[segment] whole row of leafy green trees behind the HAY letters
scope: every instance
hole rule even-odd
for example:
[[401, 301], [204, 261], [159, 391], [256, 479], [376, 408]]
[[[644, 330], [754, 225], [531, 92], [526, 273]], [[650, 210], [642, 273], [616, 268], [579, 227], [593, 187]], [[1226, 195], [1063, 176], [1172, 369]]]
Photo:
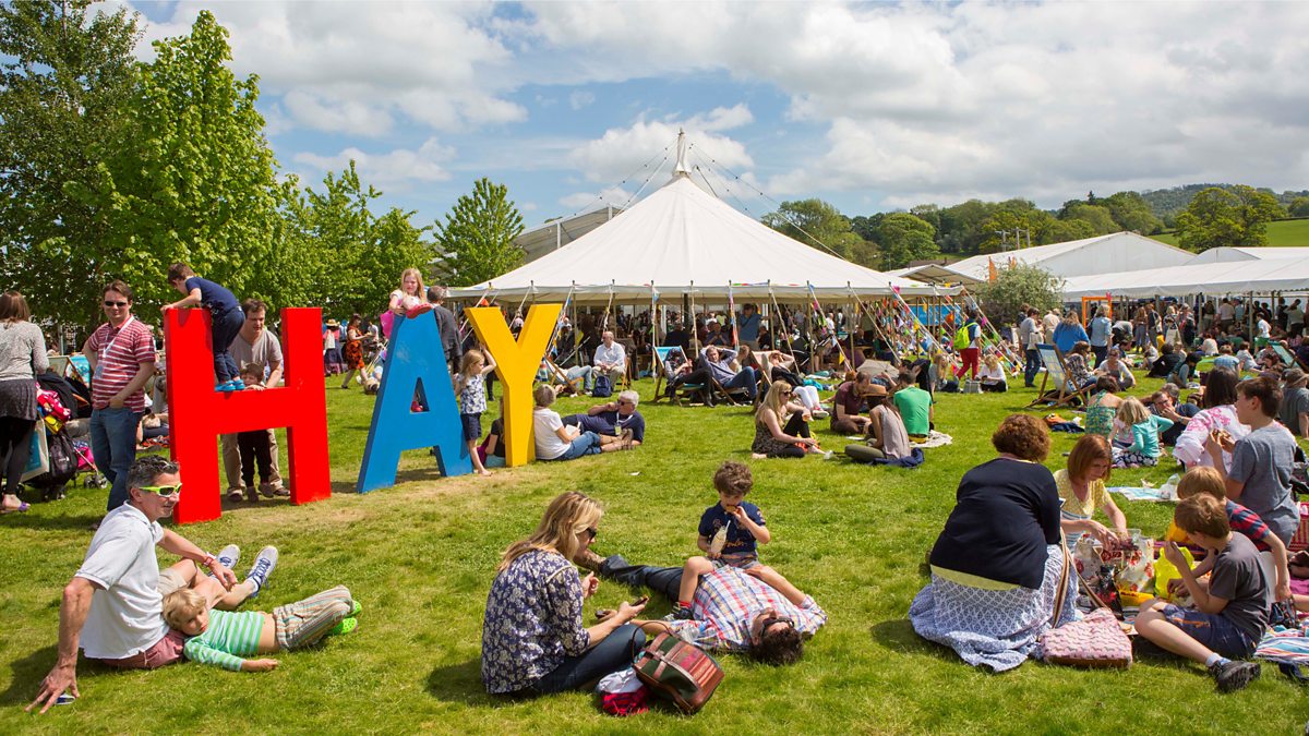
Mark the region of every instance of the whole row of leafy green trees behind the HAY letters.
[[209, 12], [140, 63], [137, 14], [90, 4], [0, 5], [0, 276], [41, 318], [93, 325], [111, 279], [143, 306], [171, 300], [174, 261], [336, 316], [380, 312], [407, 267], [465, 285], [521, 261], [503, 185], [478, 181], [431, 225], [378, 208], [353, 161], [306, 185], [281, 170], [258, 76], [232, 73]]

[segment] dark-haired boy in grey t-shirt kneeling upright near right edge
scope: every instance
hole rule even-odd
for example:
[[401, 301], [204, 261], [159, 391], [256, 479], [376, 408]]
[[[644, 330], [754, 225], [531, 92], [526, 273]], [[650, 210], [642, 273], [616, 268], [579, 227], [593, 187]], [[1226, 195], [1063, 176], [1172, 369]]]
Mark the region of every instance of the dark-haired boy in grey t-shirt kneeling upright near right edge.
[[1223, 451], [1232, 453], [1225, 473], [1228, 498], [1259, 515], [1272, 533], [1289, 545], [1300, 526], [1300, 508], [1291, 492], [1291, 465], [1296, 440], [1274, 422], [1282, 403], [1282, 389], [1267, 377], [1247, 378], [1236, 386], [1236, 418], [1253, 430], [1233, 443], [1225, 432], [1215, 432], [1206, 448], [1223, 473]]

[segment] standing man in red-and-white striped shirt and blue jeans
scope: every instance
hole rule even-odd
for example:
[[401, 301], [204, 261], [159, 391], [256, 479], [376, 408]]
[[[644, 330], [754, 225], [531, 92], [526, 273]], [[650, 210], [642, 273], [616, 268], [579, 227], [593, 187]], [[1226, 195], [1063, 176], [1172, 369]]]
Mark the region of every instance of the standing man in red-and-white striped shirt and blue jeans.
[[154, 338], [132, 316], [132, 287], [110, 282], [103, 291], [109, 320], [86, 338], [90, 364], [90, 451], [109, 478], [106, 511], [127, 503], [127, 470], [136, 460], [136, 426], [145, 413], [145, 381], [154, 373]]

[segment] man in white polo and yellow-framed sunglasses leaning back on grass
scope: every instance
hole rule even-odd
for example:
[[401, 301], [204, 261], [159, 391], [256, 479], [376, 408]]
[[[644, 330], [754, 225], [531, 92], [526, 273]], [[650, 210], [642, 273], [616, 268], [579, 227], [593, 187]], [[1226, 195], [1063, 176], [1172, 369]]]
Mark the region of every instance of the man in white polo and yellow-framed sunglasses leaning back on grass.
[[[209, 601], [234, 606], [258, 593], [276, 564], [276, 549], [264, 549], [250, 578], [237, 585], [228, 568], [236, 563], [234, 547], [223, 551], [228, 561], [220, 561], [160, 526], [158, 520], [171, 516], [182, 494], [175, 462], [161, 456], [141, 457], [128, 470], [127, 486], [127, 503], [105, 515], [81, 568], [64, 587], [59, 659], [27, 710], [41, 705], [41, 712], [46, 712], [60, 698], [77, 697], [79, 646], [88, 659], [124, 669], [153, 669], [178, 661], [186, 639], [164, 622], [164, 593], [194, 587]], [[156, 546], [182, 561], [161, 574]], [[208, 567], [212, 578], [202, 575], [199, 564]]]

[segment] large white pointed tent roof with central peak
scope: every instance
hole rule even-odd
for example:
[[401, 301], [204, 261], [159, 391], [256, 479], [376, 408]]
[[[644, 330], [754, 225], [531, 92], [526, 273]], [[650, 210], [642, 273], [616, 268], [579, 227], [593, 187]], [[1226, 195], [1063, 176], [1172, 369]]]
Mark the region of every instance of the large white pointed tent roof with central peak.
[[571, 300], [575, 305], [810, 303], [953, 295], [958, 289], [865, 268], [792, 240], [703, 190], [679, 141], [673, 178], [580, 238], [488, 282], [452, 289], [459, 300]]

